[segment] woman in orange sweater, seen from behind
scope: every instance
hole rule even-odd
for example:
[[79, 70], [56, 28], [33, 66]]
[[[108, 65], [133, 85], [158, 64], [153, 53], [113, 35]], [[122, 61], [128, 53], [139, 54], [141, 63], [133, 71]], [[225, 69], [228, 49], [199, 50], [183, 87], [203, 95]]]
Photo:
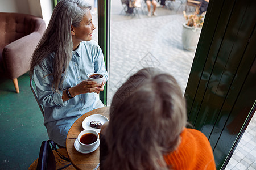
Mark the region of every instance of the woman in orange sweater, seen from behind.
[[203, 133], [185, 128], [183, 92], [154, 68], [138, 71], [115, 93], [100, 135], [101, 169], [216, 169]]

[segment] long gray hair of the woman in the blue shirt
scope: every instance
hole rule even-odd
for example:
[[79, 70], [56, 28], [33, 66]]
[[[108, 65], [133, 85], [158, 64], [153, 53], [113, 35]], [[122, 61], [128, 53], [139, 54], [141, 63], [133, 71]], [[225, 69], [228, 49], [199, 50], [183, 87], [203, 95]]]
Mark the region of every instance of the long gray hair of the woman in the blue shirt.
[[68, 63], [72, 58], [71, 25], [79, 27], [87, 8], [91, 10], [92, 7], [84, 0], [62, 0], [57, 3], [49, 25], [32, 55], [31, 77], [35, 66], [40, 65], [49, 54], [55, 53], [52, 63], [53, 91], [59, 92], [59, 87], [62, 88], [64, 78], [61, 74], [67, 75]]

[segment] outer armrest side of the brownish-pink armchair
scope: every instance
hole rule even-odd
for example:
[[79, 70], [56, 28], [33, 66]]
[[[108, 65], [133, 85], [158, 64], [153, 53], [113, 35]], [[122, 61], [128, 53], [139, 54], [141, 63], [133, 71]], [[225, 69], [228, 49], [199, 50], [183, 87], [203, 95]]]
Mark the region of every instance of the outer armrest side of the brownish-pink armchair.
[[42, 35], [39, 32], [32, 32], [10, 44], [3, 49], [3, 65], [9, 78], [18, 78], [30, 70], [32, 53]]

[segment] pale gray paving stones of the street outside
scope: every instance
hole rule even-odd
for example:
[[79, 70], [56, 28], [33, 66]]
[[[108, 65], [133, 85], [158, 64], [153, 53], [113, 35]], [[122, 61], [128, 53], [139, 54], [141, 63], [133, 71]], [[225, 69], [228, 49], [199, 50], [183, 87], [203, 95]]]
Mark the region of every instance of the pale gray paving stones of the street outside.
[[[110, 16], [109, 99], [130, 75], [143, 67], [159, 67], [173, 75], [185, 92], [195, 52], [185, 51], [181, 42], [184, 4], [176, 0], [158, 7], [158, 16], [147, 16], [143, 5], [127, 15], [121, 0], [112, 0]], [[93, 0], [89, 0], [93, 5]], [[93, 14], [97, 25], [97, 13]], [[97, 41], [97, 29], [93, 39]], [[234, 152], [226, 169], [256, 169], [256, 116]]]

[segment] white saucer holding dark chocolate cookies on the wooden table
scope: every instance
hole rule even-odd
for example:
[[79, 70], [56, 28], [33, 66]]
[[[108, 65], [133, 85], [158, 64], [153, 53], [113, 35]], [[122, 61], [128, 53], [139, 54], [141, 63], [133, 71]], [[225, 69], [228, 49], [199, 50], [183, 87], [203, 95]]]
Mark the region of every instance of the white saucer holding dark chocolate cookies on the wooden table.
[[106, 118], [105, 116], [102, 116], [101, 114], [93, 114], [91, 116], [86, 117], [84, 121], [82, 121], [82, 128], [84, 128], [84, 130], [90, 129], [90, 130], [97, 131], [97, 133], [100, 133], [101, 129], [90, 127], [91, 121], [101, 122], [101, 124], [103, 125], [105, 124], [105, 122], [108, 122], [109, 120], [108, 118]]

